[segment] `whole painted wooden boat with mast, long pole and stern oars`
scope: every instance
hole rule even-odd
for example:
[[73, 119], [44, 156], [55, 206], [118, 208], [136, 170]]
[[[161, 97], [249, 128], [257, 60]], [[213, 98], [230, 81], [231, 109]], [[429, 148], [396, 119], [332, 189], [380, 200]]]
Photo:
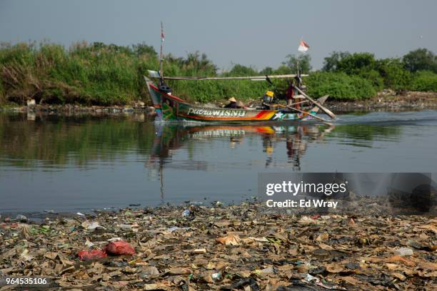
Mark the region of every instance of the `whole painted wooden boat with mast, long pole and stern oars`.
[[[159, 78], [159, 85], [154, 84], [149, 78], [144, 76], [147, 88], [151, 97], [151, 101], [154, 104], [158, 118], [167, 121], [203, 121], [203, 122], [219, 122], [219, 123], [256, 123], [266, 121], [308, 121], [313, 118], [317, 118], [321, 121], [326, 119], [316, 116], [319, 110], [326, 113], [331, 118], [335, 118], [335, 115], [323, 106], [328, 96], [313, 100], [304, 93], [301, 89], [301, 73], [298, 70], [297, 75], [274, 75], [274, 76], [239, 76], [239, 77], [169, 77], [164, 76], [163, 73], [163, 43], [164, 43], [164, 29], [161, 22], [161, 53], [159, 57], [159, 72], [149, 71], [151, 78]], [[171, 93], [169, 86], [164, 83], [164, 80], [191, 80], [191, 81], [203, 81], [203, 80], [244, 80], [249, 79], [252, 81], [268, 81], [271, 85], [271, 78], [296, 78], [297, 84], [294, 85], [291, 81], [289, 87], [292, 92], [298, 92], [304, 101], [298, 101], [288, 106], [280, 106], [278, 104], [271, 104], [273, 101], [273, 93], [271, 94], [271, 100], [268, 104], [264, 104], [261, 108], [209, 108], [205, 106], [195, 106], [190, 104], [179, 97], [174, 96]], [[290, 92], [291, 92], [290, 91]], [[292, 94], [291, 94], [292, 96]], [[291, 99], [289, 99], [291, 100]], [[306, 105], [313, 106], [306, 111], [301, 110], [300, 105], [306, 103]]]

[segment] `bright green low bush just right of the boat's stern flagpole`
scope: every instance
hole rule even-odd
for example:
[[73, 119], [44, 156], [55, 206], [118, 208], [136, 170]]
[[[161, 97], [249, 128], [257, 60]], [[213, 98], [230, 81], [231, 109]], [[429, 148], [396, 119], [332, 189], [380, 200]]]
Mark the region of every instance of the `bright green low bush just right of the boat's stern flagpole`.
[[329, 95], [341, 100], [358, 100], [376, 95], [371, 81], [346, 73], [316, 72], [307, 80], [308, 94], [316, 98]]

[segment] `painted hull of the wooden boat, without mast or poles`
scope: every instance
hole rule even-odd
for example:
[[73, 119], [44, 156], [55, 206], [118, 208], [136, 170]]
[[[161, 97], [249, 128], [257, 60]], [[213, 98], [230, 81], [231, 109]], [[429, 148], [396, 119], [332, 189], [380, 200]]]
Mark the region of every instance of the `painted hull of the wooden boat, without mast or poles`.
[[[308, 121], [317, 118], [316, 114], [328, 98], [328, 96], [323, 96], [318, 98], [317, 101], [313, 101], [315, 105], [309, 111], [301, 111], [298, 108], [291, 108], [288, 106], [282, 106], [275, 109], [210, 108], [187, 103], [183, 99], [174, 96], [169, 89], [160, 89], [159, 86], [156, 86], [156, 84], [146, 76], [144, 76], [144, 79], [158, 118], [162, 118], [166, 121], [202, 121], [219, 123]], [[164, 86], [164, 88], [168, 87]], [[322, 120], [326, 121], [324, 119]]]

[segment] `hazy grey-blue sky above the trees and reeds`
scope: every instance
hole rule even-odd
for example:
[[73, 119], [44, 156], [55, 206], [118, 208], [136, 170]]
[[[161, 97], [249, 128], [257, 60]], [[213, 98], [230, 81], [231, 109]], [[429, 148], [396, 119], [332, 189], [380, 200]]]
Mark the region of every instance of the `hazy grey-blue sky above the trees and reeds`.
[[164, 49], [175, 56], [199, 50], [222, 69], [277, 67], [303, 37], [321, 68], [332, 51], [436, 52], [436, 13], [435, 0], [0, 0], [0, 41], [144, 41], [159, 51], [162, 20]]

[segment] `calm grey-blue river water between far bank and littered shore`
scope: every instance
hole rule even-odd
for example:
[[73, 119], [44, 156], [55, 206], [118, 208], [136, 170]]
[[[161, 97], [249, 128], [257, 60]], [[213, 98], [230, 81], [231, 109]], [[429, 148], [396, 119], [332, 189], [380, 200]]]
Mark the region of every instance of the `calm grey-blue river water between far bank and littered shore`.
[[437, 111], [333, 125], [0, 115], [0, 213], [238, 202], [264, 172], [436, 172]]

